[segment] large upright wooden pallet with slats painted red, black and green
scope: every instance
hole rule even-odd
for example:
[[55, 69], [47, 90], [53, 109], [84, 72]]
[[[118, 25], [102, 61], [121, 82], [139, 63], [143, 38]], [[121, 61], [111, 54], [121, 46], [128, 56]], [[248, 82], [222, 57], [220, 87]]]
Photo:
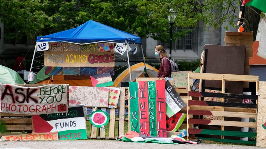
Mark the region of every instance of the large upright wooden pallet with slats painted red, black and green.
[[[256, 128], [257, 122], [241, 122], [241, 118], [257, 118], [257, 95], [225, 93], [226, 81], [256, 82], [258, 92], [258, 76], [189, 73], [190, 79], [221, 80], [221, 92], [197, 92], [188, 90], [188, 135], [187, 139], [203, 139], [214, 142], [256, 144], [256, 132], [241, 132], [241, 127]], [[196, 98], [193, 98], [196, 97]], [[221, 101], [205, 101], [199, 97], [221, 98]], [[194, 99], [194, 100], [193, 100]], [[195, 100], [197, 99], [197, 100]], [[227, 102], [226, 99], [250, 99], [255, 103]], [[203, 116], [210, 118], [203, 119]], [[214, 117], [220, 117], [214, 119]], [[194, 125], [194, 127], [191, 127]], [[195, 129], [198, 127], [198, 129]], [[239, 130], [239, 131], [238, 131]], [[241, 137], [253, 138], [251, 141]]]

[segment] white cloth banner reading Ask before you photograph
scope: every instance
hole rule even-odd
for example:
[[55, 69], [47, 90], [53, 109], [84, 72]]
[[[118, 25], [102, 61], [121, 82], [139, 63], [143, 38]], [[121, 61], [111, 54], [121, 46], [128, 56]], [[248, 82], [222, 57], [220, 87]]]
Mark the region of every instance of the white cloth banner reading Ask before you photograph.
[[0, 84], [0, 112], [29, 115], [68, 112], [67, 86]]

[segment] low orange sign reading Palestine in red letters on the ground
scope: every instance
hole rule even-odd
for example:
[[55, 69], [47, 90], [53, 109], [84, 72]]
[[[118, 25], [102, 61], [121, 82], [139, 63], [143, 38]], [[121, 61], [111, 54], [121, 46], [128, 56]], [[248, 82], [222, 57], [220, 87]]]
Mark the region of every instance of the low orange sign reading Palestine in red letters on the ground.
[[8, 135], [2, 136], [2, 140], [7, 141], [27, 141], [27, 140], [58, 140], [58, 132], [44, 132], [44, 133], [30, 133], [30, 134], [20, 134], [20, 135]]

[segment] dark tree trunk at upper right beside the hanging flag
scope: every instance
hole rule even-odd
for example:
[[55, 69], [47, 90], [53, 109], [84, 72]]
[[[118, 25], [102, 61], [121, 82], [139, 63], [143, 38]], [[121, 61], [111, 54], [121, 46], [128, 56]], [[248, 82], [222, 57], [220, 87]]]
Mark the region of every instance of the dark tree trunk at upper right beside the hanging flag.
[[260, 20], [261, 11], [254, 7], [245, 6], [244, 14], [244, 31], [252, 32], [253, 31], [253, 41], [256, 40], [258, 23]]

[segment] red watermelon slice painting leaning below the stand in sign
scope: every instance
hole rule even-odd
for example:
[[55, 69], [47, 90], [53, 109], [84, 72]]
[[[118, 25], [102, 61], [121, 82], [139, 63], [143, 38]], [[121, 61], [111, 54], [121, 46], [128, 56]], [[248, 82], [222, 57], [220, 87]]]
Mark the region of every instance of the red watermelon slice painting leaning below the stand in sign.
[[176, 113], [172, 117], [166, 115], [166, 131], [176, 132], [184, 122], [186, 114]]

